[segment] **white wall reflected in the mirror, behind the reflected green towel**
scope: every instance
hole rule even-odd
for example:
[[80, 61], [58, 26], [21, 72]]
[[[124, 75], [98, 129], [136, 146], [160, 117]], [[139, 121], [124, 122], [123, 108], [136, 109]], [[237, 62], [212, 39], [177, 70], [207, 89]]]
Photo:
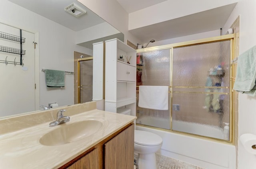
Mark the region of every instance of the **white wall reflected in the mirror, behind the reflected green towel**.
[[[8, 0], [1, 0], [0, 22], [39, 33], [39, 67], [74, 71], [74, 51], [92, 55], [92, 50], [75, 45], [75, 32], [26, 10]], [[33, 45], [33, 44], [31, 44]], [[74, 104], [74, 75], [66, 75], [65, 88], [47, 89], [44, 72], [40, 71], [40, 104], [57, 102], [60, 106]], [[38, 107], [39, 109], [39, 107]]]

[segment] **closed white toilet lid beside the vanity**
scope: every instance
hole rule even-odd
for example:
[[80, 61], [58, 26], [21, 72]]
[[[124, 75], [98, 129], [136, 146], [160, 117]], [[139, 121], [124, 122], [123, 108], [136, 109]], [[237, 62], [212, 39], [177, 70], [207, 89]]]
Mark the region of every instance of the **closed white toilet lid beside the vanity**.
[[162, 144], [160, 136], [146, 131], [134, 130], [134, 143], [140, 145], [154, 146]]

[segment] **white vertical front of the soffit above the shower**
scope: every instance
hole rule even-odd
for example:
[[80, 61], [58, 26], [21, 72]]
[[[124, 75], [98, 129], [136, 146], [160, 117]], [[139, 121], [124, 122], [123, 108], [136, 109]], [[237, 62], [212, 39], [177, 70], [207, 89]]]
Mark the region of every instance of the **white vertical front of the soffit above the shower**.
[[238, 2], [238, 0], [167, 0], [129, 14], [129, 30]]

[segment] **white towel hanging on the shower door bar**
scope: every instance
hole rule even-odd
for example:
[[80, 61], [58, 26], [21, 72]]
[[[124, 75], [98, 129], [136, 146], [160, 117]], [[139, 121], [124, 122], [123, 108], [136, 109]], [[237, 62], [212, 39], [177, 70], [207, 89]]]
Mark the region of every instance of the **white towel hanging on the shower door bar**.
[[169, 86], [139, 86], [141, 108], [168, 110]]

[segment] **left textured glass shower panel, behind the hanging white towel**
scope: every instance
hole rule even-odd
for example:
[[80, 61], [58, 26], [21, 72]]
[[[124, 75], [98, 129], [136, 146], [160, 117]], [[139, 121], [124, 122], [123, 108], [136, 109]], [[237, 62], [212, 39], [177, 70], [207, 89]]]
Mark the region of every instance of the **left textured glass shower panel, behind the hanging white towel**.
[[[170, 58], [171, 49], [148, 51], [137, 54], [136, 116], [138, 119], [136, 122], [138, 124], [170, 130], [170, 94], [168, 94], [168, 110], [155, 110], [138, 106], [139, 86], [168, 86], [169, 88]], [[151, 89], [148, 89], [147, 93], [152, 92], [149, 90]], [[161, 97], [160, 94], [158, 97]]]

